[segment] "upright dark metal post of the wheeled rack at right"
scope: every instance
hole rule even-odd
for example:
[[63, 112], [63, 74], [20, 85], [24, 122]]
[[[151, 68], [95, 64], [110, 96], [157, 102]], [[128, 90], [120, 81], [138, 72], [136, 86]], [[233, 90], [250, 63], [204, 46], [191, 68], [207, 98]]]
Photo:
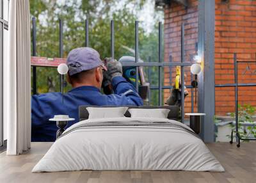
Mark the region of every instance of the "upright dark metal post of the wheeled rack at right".
[[[237, 86], [237, 55], [234, 53], [234, 78], [235, 78], [235, 107], [236, 107], [236, 134], [238, 132], [238, 86]], [[237, 136], [236, 136], [237, 137]], [[238, 139], [236, 138], [236, 141]]]

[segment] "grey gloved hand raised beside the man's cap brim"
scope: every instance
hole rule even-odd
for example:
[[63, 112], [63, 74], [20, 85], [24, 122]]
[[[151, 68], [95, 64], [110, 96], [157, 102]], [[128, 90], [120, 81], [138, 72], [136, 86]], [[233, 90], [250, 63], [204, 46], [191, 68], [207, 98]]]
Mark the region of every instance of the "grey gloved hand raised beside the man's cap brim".
[[123, 75], [122, 64], [119, 61], [112, 58], [105, 58], [104, 60], [106, 61], [106, 67], [108, 68], [105, 76], [109, 81], [112, 81], [116, 76]]

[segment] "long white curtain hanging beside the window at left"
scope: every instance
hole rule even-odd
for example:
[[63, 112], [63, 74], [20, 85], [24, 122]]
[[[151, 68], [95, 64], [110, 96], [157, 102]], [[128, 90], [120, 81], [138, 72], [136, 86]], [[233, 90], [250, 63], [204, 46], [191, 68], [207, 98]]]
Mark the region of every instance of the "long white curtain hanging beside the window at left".
[[21, 154], [31, 144], [29, 0], [11, 0], [8, 61], [4, 63], [4, 120], [8, 155]]

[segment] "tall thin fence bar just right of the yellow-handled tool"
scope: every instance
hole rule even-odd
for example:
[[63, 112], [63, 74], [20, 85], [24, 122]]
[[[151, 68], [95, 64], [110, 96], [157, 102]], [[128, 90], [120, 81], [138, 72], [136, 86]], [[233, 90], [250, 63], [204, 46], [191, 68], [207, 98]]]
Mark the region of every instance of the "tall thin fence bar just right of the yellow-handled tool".
[[[184, 22], [181, 25], [181, 62], [184, 62]], [[184, 67], [181, 66], [181, 122], [184, 123]]]

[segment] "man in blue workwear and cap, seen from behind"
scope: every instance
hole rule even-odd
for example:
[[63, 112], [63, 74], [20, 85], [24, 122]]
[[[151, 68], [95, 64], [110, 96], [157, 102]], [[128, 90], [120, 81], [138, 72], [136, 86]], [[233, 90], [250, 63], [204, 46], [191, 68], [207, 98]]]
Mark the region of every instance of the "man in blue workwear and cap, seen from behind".
[[[72, 90], [33, 95], [31, 101], [31, 141], [55, 141], [56, 122], [50, 122], [54, 115], [68, 115], [75, 118], [68, 127], [79, 120], [79, 106], [141, 106], [143, 101], [138, 92], [122, 77], [122, 64], [116, 60], [103, 65], [100, 55], [90, 47], [80, 47], [69, 52], [67, 57], [67, 81]], [[103, 74], [104, 72], [104, 74]], [[111, 82], [113, 94], [100, 93], [104, 76]]]

